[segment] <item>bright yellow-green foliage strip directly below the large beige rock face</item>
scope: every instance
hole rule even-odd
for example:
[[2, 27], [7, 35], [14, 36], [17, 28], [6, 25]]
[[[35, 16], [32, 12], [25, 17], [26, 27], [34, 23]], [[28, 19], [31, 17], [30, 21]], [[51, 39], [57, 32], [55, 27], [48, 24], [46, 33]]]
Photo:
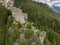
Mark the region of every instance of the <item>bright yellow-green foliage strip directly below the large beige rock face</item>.
[[11, 45], [13, 45], [14, 42], [16, 41], [16, 39], [19, 38], [19, 35], [20, 35], [19, 29], [20, 29], [21, 25], [19, 23], [15, 22], [12, 24], [12, 26], [13, 26], [13, 32], [12, 32], [12, 36], [11, 36], [11, 38], [12, 38]]

